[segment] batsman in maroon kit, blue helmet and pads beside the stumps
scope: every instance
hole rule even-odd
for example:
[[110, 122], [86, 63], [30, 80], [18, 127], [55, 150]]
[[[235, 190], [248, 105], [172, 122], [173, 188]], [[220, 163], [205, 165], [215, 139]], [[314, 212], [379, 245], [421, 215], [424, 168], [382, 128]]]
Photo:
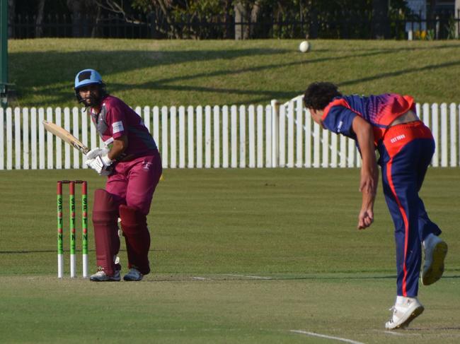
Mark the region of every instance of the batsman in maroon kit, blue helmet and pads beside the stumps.
[[139, 281], [150, 272], [150, 233], [146, 223], [156, 185], [161, 177], [161, 157], [142, 118], [125, 102], [109, 95], [94, 69], [79, 71], [76, 99], [87, 109], [104, 147], [86, 154], [86, 165], [107, 176], [104, 189], [96, 189], [93, 227], [98, 271], [95, 282], [119, 281], [118, 218], [125, 237], [129, 271], [123, 279]]

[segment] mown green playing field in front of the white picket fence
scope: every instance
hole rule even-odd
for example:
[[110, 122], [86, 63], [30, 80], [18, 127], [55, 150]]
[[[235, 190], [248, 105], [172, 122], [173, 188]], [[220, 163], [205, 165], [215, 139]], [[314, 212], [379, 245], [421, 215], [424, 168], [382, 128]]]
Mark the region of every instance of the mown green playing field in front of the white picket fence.
[[[55, 183], [88, 180], [91, 209], [103, 177], [0, 177], [4, 343], [459, 343], [457, 169], [430, 169], [421, 193], [449, 244], [444, 278], [420, 286], [425, 313], [393, 333], [384, 330], [396, 290], [393, 225], [380, 192], [376, 222], [356, 229], [356, 169], [166, 170], [149, 214], [152, 273], [141, 283], [56, 278]], [[120, 256], [125, 263], [124, 245]]]

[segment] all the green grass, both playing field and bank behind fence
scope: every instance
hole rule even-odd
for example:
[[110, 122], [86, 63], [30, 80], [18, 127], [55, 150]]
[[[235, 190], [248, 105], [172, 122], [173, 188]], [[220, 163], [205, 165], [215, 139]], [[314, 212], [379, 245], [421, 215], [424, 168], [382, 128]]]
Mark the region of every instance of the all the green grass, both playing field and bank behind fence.
[[[88, 67], [131, 106], [267, 104], [318, 80], [344, 93], [458, 102], [458, 40], [311, 43], [301, 54], [297, 40], [10, 40], [18, 98], [9, 105], [72, 107], [74, 76]], [[152, 273], [141, 283], [90, 283], [56, 277], [55, 188], [58, 179], [88, 180], [91, 209], [104, 179], [91, 170], [0, 171], [0, 342], [459, 343], [458, 169], [430, 169], [422, 189], [449, 244], [444, 278], [420, 286], [425, 313], [392, 333], [384, 323], [396, 292], [393, 224], [379, 194], [376, 222], [356, 229], [358, 170], [164, 177], [149, 215]], [[91, 232], [90, 243], [94, 268]], [[124, 245], [120, 257], [126, 271]]]

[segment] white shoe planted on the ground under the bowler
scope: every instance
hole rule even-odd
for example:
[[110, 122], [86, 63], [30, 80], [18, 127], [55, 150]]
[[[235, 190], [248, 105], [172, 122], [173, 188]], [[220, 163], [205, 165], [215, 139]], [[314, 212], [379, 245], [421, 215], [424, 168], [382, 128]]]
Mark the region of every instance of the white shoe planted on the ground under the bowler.
[[385, 328], [387, 330], [406, 328], [410, 321], [422, 314], [424, 309], [422, 304], [418, 302], [417, 297], [398, 296], [395, 305], [390, 309], [393, 312], [393, 316], [389, 321], [386, 321]]

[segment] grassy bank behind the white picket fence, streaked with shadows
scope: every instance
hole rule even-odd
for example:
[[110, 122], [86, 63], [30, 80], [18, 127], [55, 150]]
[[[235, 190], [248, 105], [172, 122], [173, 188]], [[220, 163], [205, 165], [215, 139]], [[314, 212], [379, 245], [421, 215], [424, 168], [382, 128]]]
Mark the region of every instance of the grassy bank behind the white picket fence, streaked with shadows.
[[410, 94], [417, 102], [458, 102], [460, 41], [313, 40], [10, 40], [11, 106], [75, 106], [81, 69], [102, 73], [132, 107], [268, 104], [287, 101], [313, 81], [344, 93]]

